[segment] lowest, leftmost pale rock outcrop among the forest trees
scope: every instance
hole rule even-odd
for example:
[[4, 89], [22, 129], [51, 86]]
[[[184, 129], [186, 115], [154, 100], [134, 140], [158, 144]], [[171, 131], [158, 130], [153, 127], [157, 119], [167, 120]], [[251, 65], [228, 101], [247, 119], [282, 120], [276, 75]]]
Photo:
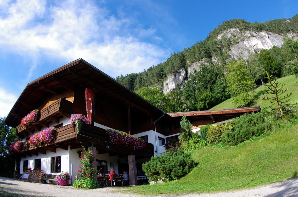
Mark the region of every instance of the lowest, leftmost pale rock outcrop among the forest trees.
[[169, 75], [164, 82], [163, 93], [167, 94], [172, 92], [176, 86], [180, 86], [183, 80], [186, 78], [186, 71], [184, 69], [179, 69], [175, 75]]

